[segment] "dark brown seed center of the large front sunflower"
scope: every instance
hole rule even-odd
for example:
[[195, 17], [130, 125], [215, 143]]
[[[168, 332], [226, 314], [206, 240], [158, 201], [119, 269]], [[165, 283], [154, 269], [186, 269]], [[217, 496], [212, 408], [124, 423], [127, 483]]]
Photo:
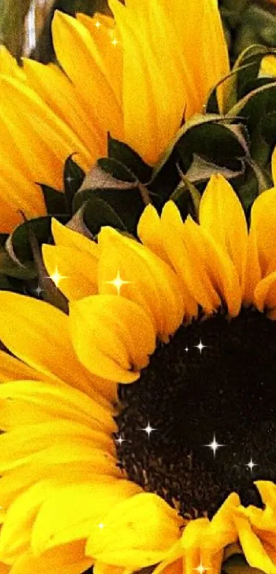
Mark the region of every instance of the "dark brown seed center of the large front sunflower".
[[211, 517], [233, 490], [261, 506], [253, 481], [276, 482], [276, 322], [243, 310], [180, 327], [120, 397], [129, 479], [182, 516]]

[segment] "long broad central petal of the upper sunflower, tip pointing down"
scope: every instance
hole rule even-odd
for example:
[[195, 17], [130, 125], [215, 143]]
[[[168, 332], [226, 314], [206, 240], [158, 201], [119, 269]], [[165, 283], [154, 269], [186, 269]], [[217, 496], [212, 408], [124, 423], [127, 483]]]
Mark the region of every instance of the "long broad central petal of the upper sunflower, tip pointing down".
[[[125, 140], [146, 162], [153, 164], [181, 125], [186, 102], [182, 62], [175, 53], [177, 47], [174, 58], [168, 57], [164, 36], [172, 36], [173, 31], [161, 6], [154, 18], [150, 16], [154, 5], [146, 14], [141, 10], [137, 23], [136, 12], [128, 5], [125, 8], [117, 0], [110, 0], [109, 4], [123, 44]], [[162, 38], [156, 48], [153, 37], [156, 38], [157, 25]]]

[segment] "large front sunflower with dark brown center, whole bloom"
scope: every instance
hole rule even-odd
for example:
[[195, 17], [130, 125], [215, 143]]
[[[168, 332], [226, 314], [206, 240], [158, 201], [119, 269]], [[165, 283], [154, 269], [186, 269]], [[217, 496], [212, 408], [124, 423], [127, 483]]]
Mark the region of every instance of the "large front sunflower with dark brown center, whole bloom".
[[276, 572], [275, 220], [272, 188], [248, 232], [220, 175], [199, 223], [147, 205], [143, 245], [53, 220], [69, 316], [0, 293], [11, 574], [219, 573], [233, 543]]

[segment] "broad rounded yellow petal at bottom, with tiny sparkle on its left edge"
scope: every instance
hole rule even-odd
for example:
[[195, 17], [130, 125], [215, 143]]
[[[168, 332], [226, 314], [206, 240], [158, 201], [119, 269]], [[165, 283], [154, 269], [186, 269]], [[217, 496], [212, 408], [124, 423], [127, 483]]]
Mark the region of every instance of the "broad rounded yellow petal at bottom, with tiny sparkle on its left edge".
[[115, 566], [140, 569], [160, 562], [179, 538], [183, 520], [177, 512], [148, 492], [116, 504], [91, 533], [86, 553]]

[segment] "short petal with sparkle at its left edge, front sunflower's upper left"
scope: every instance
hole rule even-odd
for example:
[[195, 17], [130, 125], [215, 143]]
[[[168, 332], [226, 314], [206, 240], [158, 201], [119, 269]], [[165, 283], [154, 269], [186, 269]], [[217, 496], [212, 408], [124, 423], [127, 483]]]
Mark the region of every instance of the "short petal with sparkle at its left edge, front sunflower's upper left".
[[62, 276], [58, 288], [69, 301], [77, 301], [98, 292], [97, 260], [74, 247], [42, 246], [42, 256], [49, 277], [55, 270]]

